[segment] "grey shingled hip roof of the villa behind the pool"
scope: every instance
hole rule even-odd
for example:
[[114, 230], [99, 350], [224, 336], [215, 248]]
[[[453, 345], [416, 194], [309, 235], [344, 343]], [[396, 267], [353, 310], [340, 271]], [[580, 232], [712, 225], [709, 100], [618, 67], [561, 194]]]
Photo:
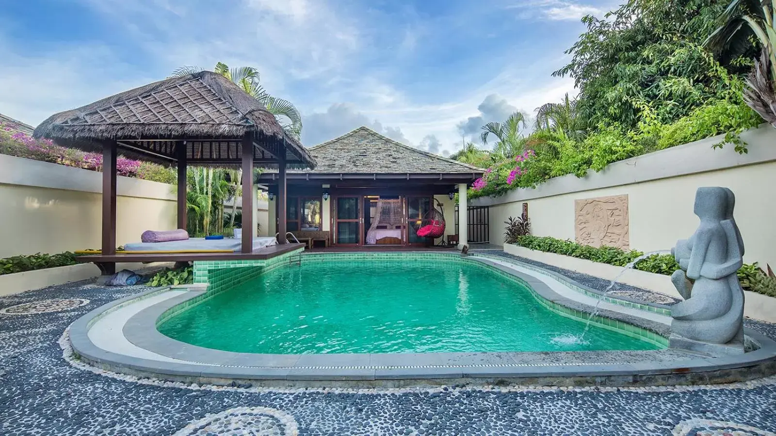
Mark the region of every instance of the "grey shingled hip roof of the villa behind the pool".
[[483, 171], [401, 144], [365, 126], [308, 150], [315, 157], [317, 166], [313, 171], [295, 172], [471, 174]]

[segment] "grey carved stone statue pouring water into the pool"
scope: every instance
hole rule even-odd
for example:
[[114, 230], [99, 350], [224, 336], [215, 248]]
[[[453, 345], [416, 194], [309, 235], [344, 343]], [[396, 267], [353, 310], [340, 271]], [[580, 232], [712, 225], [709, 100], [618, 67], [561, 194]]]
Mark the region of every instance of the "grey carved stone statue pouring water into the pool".
[[727, 188], [695, 193], [701, 223], [690, 239], [678, 240], [671, 249], [681, 268], [671, 282], [684, 298], [671, 308], [672, 347], [743, 353], [743, 289], [736, 275], [743, 265], [743, 240], [733, 219], [735, 202]]

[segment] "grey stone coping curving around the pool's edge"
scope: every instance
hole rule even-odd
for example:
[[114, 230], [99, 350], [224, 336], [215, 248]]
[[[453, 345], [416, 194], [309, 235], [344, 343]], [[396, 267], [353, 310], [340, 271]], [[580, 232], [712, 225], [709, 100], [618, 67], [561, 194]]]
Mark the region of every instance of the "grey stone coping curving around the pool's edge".
[[[468, 257], [526, 282], [541, 299], [589, 313], [593, 308], [584, 303], [559, 296], [546, 283], [513, 268], [496, 264], [485, 258]], [[514, 261], [513, 261], [514, 262]], [[557, 274], [553, 274], [557, 275]], [[566, 278], [567, 279], [567, 278]], [[469, 352], [469, 353], [372, 353], [320, 355], [262, 355], [237, 353], [186, 344], [167, 337], [156, 328], [163, 313], [189, 299], [202, 295], [202, 288], [193, 288], [180, 296], [173, 296], [134, 314], [123, 326], [123, 334], [130, 343], [158, 355], [175, 358], [185, 363], [120, 355], [97, 347], [88, 337], [89, 327], [104, 314], [136, 299], [159, 295], [169, 289], [151, 289], [133, 296], [107, 303], [92, 310], [71, 325], [70, 341], [73, 351], [82, 360], [103, 369], [131, 375], [151, 376], [188, 382], [227, 383], [250, 380], [263, 384], [280, 382], [282, 386], [298, 386], [303, 382], [349, 382], [389, 384], [439, 384], [451, 380], [534, 380], [544, 384], [601, 384], [632, 386], [639, 384], [681, 384], [701, 379], [743, 381], [776, 372], [776, 342], [746, 329], [750, 340], [760, 348], [743, 355], [712, 358], [685, 354], [688, 358], [674, 361], [646, 361], [636, 363], [587, 362], [596, 353], [611, 356], [622, 351], [566, 351], [566, 362], [546, 364], [535, 362], [552, 352]], [[621, 320], [661, 336], [670, 334], [670, 327], [652, 320], [632, 317], [624, 313], [601, 310], [603, 317]], [[660, 353], [663, 350], [642, 351]], [[548, 354], [549, 353], [549, 354]], [[556, 353], [557, 355], [557, 353]], [[573, 358], [573, 356], [578, 358]], [[522, 363], [521, 363], [522, 362]]]

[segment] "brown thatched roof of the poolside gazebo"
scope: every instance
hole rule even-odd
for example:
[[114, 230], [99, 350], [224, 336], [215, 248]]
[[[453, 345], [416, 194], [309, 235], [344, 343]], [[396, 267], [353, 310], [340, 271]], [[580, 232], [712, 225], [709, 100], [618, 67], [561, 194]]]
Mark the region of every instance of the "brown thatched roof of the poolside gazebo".
[[272, 113], [212, 71], [168, 78], [54, 114], [34, 136], [85, 151], [100, 151], [115, 140], [123, 154], [150, 161], [176, 161], [178, 147], [185, 144], [191, 164], [239, 164], [246, 133], [253, 137], [255, 161], [264, 166], [284, 149], [288, 164], [315, 166]]

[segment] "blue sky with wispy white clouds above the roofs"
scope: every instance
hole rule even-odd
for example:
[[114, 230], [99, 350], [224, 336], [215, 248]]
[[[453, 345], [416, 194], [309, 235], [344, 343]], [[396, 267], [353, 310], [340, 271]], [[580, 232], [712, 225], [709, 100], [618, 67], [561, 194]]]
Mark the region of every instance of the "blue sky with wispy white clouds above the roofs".
[[31, 0], [0, 9], [0, 112], [33, 126], [167, 77], [250, 65], [303, 143], [366, 125], [443, 154], [574, 94], [550, 74], [602, 0]]

